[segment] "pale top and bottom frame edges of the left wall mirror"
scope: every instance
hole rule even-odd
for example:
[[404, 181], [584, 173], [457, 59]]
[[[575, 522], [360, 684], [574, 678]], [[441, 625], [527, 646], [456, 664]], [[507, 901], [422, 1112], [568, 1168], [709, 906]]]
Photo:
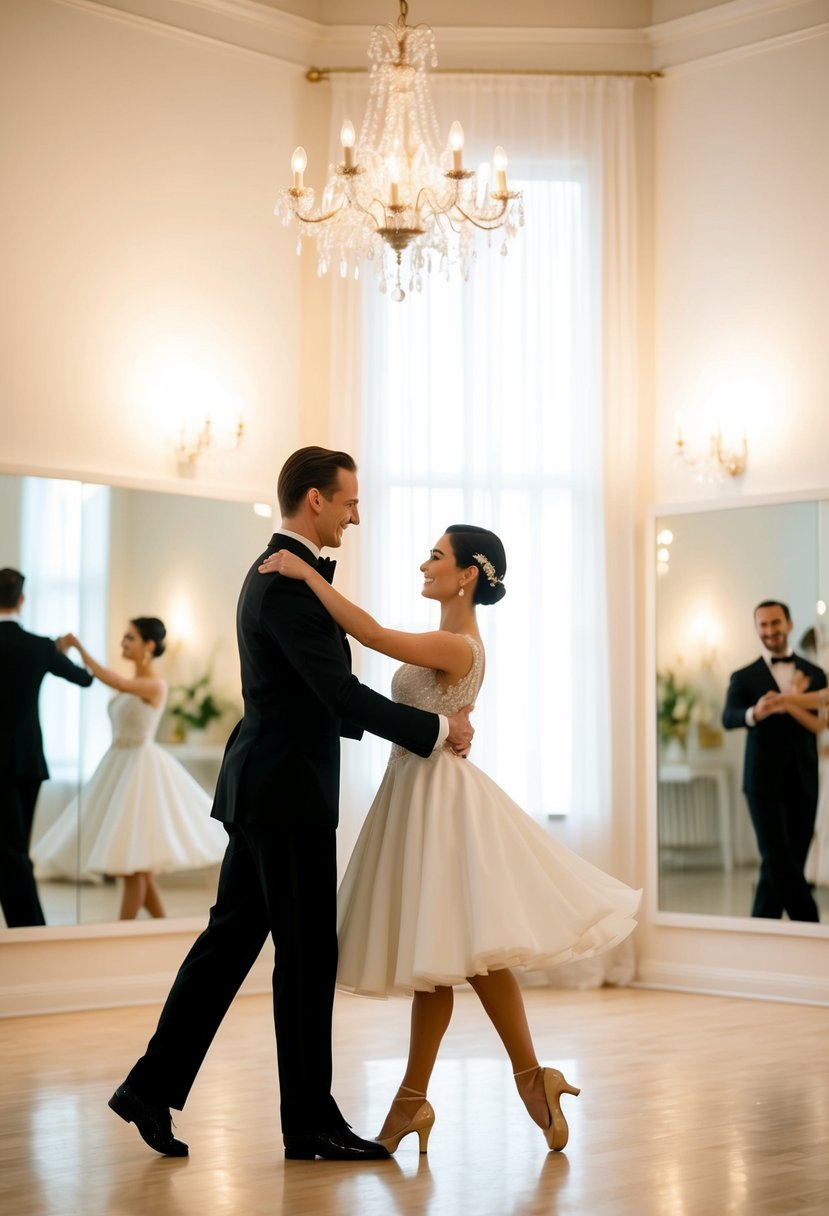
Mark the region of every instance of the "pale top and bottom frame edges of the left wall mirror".
[[[122, 477], [103, 471], [89, 472], [66, 468], [43, 468], [40, 466], [15, 465], [0, 461], [0, 474], [4, 477], [44, 477], [56, 480], [89, 482], [94, 485], [112, 485], [124, 490], [143, 490], [154, 494], [177, 494], [181, 497], [214, 499], [221, 502], [269, 502], [276, 511], [275, 486], [270, 490], [246, 489], [232, 485], [216, 485], [198, 477], [187, 480], [164, 480], [152, 478]], [[209, 910], [208, 910], [209, 911]], [[135, 938], [164, 936], [173, 934], [201, 933], [207, 919], [205, 914], [186, 917], [163, 917], [147, 921], [101, 921], [80, 924], [61, 925], [21, 925], [17, 929], [0, 928], [0, 946], [4, 944], [26, 944], [45, 941], [80, 941], [95, 938]]]

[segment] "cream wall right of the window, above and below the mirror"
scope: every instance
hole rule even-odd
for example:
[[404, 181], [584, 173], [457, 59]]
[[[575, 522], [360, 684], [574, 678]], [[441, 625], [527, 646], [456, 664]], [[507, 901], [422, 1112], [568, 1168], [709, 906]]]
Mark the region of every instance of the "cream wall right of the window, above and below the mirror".
[[[655, 135], [654, 496], [660, 513], [717, 494], [829, 484], [829, 34], [714, 56], [659, 81]], [[721, 423], [749, 439], [749, 471], [723, 488], [672, 465], [676, 411], [689, 446]], [[649, 534], [648, 534], [649, 535]], [[650, 721], [649, 706], [642, 714]], [[645, 744], [647, 745], [647, 744]], [[645, 766], [642, 838], [653, 815]], [[647, 878], [652, 871], [647, 871]], [[638, 935], [645, 981], [829, 1001], [825, 936], [769, 924]], [[699, 922], [698, 922], [699, 925]]]

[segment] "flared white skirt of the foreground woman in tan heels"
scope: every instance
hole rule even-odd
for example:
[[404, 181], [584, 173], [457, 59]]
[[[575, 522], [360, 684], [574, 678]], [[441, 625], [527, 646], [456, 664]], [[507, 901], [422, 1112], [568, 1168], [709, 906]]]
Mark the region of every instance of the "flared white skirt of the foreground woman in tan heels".
[[627, 938], [639, 900], [469, 760], [406, 753], [387, 769], [340, 886], [337, 981], [410, 995], [590, 958]]

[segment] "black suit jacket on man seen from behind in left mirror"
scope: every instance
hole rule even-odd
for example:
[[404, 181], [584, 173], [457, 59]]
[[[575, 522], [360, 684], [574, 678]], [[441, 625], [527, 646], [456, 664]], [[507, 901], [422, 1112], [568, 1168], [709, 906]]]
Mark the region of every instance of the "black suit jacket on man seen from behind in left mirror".
[[0, 772], [45, 781], [38, 700], [50, 672], [88, 687], [92, 676], [67, 659], [51, 637], [39, 637], [16, 620], [0, 621]]

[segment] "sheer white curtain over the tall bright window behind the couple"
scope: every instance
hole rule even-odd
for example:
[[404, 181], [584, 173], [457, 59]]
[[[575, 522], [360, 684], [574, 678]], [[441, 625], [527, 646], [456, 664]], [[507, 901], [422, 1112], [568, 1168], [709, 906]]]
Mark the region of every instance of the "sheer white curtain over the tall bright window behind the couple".
[[[526, 225], [506, 257], [497, 233], [491, 249], [484, 241], [468, 285], [433, 276], [395, 304], [368, 276], [359, 305], [353, 283], [337, 285], [332, 433], [357, 455], [363, 513], [349, 564], [359, 550], [357, 593], [384, 624], [429, 627], [417, 570], [429, 546], [450, 523], [501, 535], [507, 597], [479, 609], [487, 676], [474, 761], [620, 873], [614, 788], [628, 788], [631, 758], [614, 744], [609, 620], [632, 586], [620, 475], [633, 434], [632, 84], [444, 77], [434, 96], [441, 131], [463, 123], [467, 164], [491, 156], [484, 133], [507, 148]], [[337, 83], [334, 136], [362, 105], [360, 84]], [[609, 570], [622, 579], [613, 604]], [[393, 666], [362, 657], [378, 688]], [[385, 751], [349, 754], [344, 855]]]

